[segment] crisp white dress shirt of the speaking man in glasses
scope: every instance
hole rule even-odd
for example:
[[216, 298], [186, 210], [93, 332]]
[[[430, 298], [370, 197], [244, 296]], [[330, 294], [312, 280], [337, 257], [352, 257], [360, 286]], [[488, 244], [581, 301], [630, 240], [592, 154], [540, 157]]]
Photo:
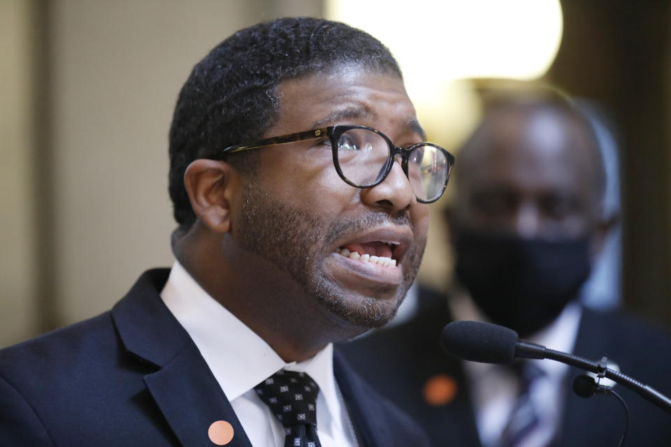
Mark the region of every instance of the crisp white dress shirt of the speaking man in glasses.
[[254, 386], [280, 369], [306, 372], [319, 385], [317, 432], [323, 447], [357, 445], [333, 375], [332, 344], [303, 362], [284, 362], [261, 337], [205, 292], [177, 261], [161, 298], [198, 347], [252, 446], [284, 446], [282, 424], [254, 392]]

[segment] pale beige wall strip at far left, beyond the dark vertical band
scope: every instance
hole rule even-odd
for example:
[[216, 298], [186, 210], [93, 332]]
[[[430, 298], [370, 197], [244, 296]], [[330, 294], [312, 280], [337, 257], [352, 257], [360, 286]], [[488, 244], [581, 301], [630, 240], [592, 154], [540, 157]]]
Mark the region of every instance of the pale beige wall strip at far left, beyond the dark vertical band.
[[0, 1], [0, 345], [36, 329], [31, 8]]

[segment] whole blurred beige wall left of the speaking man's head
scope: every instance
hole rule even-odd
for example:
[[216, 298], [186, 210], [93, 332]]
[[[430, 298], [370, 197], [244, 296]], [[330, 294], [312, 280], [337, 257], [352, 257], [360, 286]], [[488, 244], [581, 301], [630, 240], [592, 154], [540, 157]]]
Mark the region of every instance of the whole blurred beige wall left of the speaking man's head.
[[0, 346], [170, 265], [168, 128], [192, 66], [316, 0], [0, 1]]

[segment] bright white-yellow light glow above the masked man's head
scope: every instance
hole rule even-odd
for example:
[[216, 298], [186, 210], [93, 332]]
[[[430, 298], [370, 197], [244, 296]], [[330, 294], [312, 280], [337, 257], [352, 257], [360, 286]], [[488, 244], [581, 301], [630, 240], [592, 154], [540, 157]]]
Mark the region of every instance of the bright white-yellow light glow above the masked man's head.
[[559, 0], [326, 0], [324, 12], [389, 47], [429, 137], [445, 145], [477, 120], [475, 95], [454, 81], [540, 78], [563, 27]]

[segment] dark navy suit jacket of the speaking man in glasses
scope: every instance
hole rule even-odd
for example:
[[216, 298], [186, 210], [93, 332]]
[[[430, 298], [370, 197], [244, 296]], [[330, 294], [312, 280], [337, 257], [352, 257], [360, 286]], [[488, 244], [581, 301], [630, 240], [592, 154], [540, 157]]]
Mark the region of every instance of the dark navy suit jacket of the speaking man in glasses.
[[[233, 425], [228, 446], [251, 446], [159, 296], [168, 272], [145, 272], [110, 312], [0, 351], [0, 446], [213, 446], [216, 420]], [[333, 361], [361, 445], [428, 445], [338, 353]]]

